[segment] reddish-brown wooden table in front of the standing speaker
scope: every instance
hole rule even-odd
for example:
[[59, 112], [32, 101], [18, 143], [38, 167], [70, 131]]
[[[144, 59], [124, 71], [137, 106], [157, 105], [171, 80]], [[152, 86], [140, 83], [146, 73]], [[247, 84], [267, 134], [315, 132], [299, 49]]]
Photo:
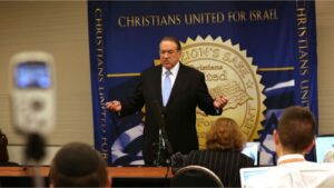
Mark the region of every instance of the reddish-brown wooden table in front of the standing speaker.
[[[49, 185], [50, 167], [40, 167], [45, 184]], [[33, 167], [0, 167], [0, 187], [31, 187]], [[167, 167], [108, 167], [112, 187], [168, 187], [171, 169]]]

